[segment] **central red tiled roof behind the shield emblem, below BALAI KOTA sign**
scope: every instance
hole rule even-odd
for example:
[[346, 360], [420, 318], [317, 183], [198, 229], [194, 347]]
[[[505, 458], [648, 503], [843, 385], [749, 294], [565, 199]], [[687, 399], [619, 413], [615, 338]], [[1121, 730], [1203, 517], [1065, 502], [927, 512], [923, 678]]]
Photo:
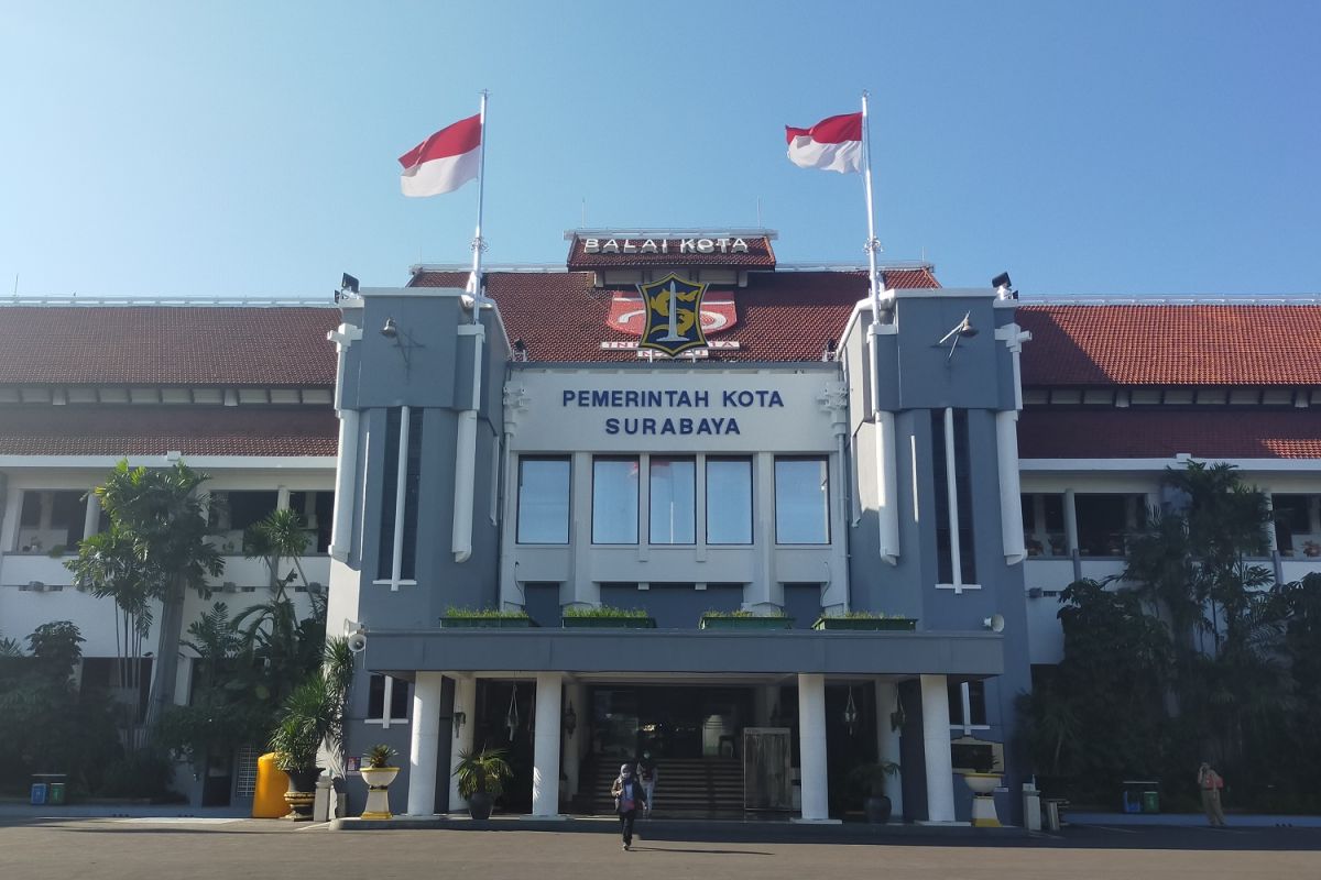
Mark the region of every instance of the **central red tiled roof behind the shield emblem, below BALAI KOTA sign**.
[[[592, 286], [592, 273], [491, 273], [486, 293], [495, 299], [510, 339], [527, 343], [531, 360], [635, 361], [629, 350], [601, 350], [602, 340], [635, 336], [608, 326], [612, 289]], [[462, 288], [466, 272], [420, 272], [416, 288]], [[888, 286], [939, 288], [929, 269], [885, 273]], [[733, 290], [738, 323], [719, 339], [737, 350], [712, 351], [729, 360], [819, 360], [827, 339], [838, 339], [859, 299], [865, 272], [753, 272]]]

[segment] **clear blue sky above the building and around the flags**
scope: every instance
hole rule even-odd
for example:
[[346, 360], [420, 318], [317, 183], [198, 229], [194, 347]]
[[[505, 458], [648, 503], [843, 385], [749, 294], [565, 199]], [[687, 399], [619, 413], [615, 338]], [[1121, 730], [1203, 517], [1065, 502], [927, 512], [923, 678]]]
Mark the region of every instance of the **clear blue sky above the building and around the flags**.
[[326, 298], [462, 263], [396, 157], [489, 88], [491, 263], [765, 226], [864, 260], [783, 125], [872, 91], [882, 259], [1024, 297], [1321, 293], [1321, 3], [0, 3], [0, 296]]

